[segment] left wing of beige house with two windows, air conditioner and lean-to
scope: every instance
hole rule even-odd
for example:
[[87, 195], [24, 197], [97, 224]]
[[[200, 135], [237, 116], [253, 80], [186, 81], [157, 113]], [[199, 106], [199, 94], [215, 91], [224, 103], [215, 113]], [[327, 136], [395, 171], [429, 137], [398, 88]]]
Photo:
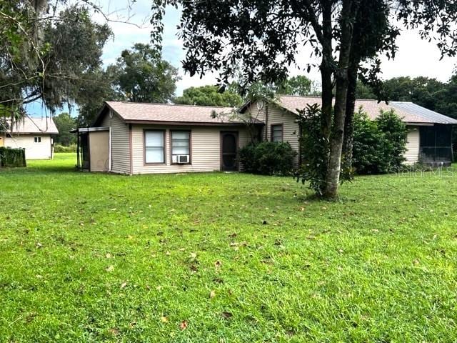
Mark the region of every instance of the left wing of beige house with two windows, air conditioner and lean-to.
[[120, 174], [236, 171], [238, 149], [251, 136], [245, 122], [230, 120], [233, 111], [107, 101], [94, 125], [75, 130], [78, 166]]

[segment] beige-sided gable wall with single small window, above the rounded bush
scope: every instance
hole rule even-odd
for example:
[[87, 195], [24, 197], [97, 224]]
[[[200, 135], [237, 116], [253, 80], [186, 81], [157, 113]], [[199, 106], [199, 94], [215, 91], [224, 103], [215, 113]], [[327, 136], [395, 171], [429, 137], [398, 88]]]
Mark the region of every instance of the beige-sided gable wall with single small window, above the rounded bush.
[[[268, 110], [268, 117], [266, 111]], [[298, 144], [298, 123], [294, 114], [285, 111], [273, 104], [264, 104], [262, 109], [257, 109], [256, 104], [252, 104], [248, 111], [251, 111], [253, 118], [263, 121], [265, 127], [263, 129], [262, 139], [266, 141], [271, 140], [271, 125], [283, 125], [283, 141], [288, 141], [292, 148], [297, 151]], [[298, 155], [295, 158], [295, 164], [298, 165]]]

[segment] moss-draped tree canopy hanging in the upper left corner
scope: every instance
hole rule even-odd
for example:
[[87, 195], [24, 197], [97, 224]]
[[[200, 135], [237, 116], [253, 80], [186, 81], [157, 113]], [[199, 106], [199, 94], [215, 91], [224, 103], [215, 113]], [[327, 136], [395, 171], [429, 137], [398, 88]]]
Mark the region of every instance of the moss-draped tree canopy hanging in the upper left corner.
[[19, 116], [24, 104], [36, 100], [53, 113], [63, 104], [71, 106], [101, 66], [103, 46], [112, 36], [109, 26], [94, 23], [87, 6], [75, 4], [59, 13], [46, 7], [48, 1], [0, 5], [0, 29], [6, 32], [0, 42], [4, 116]]

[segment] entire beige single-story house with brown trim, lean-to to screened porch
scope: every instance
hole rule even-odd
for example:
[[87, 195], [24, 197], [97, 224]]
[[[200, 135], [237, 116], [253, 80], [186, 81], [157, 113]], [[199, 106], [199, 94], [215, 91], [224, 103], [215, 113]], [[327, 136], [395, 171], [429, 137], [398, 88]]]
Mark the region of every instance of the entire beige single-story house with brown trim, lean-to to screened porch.
[[[78, 166], [91, 172], [119, 174], [236, 171], [238, 149], [257, 134], [266, 141], [298, 143], [297, 109], [321, 99], [279, 96], [271, 103], [229, 107], [140, 104], [107, 101], [94, 124], [74, 130], [78, 136]], [[408, 102], [378, 104], [358, 100], [372, 119], [394, 109], [408, 126], [406, 163], [452, 160], [452, 126], [457, 120]], [[225, 114], [214, 116], [214, 114]], [[299, 164], [298, 157], [296, 164]]]

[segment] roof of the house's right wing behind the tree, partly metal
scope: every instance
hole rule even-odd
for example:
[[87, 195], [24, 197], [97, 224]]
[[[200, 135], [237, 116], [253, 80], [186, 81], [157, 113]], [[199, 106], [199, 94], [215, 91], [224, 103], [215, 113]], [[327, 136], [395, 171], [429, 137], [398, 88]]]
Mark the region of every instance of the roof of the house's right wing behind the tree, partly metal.
[[[279, 96], [276, 104], [293, 114], [298, 114], [297, 109], [304, 109], [308, 104], [321, 104], [322, 99], [314, 96]], [[370, 119], [376, 119], [381, 110], [388, 111], [393, 109], [404, 122], [411, 124], [457, 124], [456, 119], [452, 119], [443, 114], [426, 109], [425, 107], [413, 104], [412, 102], [390, 101], [378, 103], [377, 100], [356, 100], [356, 110], [360, 107], [366, 111]]]

